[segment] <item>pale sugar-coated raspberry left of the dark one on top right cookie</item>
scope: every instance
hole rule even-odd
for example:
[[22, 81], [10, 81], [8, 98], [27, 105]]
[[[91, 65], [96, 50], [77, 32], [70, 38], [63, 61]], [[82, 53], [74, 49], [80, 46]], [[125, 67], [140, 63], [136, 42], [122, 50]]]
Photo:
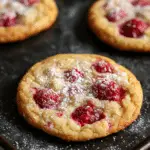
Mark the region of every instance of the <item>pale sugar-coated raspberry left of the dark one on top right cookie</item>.
[[121, 20], [121, 19], [123, 19], [124, 17], [126, 17], [127, 16], [127, 13], [124, 11], [124, 10], [119, 10], [119, 11], [117, 11], [117, 10], [112, 10], [112, 11], [110, 11], [107, 15], [106, 15], [106, 17], [107, 17], [107, 19], [109, 20], [109, 21], [111, 21], [111, 22], [116, 22], [116, 21], [119, 21], [119, 20]]

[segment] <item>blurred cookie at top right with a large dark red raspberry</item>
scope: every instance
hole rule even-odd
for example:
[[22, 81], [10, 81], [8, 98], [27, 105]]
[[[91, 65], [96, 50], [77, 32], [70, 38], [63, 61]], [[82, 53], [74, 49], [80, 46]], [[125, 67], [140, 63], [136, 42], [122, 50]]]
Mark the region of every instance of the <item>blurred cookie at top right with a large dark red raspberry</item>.
[[88, 22], [99, 39], [126, 51], [150, 51], [149, 0], [98, 0]]

